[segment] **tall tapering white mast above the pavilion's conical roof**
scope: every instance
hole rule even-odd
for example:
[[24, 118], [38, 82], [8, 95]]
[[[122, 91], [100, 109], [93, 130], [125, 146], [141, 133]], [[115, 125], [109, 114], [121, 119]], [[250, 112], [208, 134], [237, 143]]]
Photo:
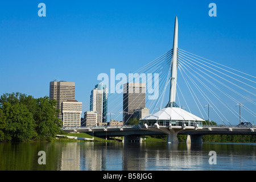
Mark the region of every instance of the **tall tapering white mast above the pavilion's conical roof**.
[[172, 64], [171, 64], [171, 85], [170, 85], [170, 99], [166, 107], [179, 107], [176, 102], [176, 84], [177, 84], [177, 39], [178, 39], [178, 23], [177, 16], [175, 17], [174, 27], [174, 45], [172, 48]]

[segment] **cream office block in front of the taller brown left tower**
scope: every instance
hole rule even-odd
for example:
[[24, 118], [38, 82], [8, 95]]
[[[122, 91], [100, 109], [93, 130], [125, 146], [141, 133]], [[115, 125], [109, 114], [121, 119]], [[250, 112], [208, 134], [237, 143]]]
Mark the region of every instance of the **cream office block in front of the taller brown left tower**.
[[61, 104], [63, 126], [81, 126], [82, 102], [67, 100]]

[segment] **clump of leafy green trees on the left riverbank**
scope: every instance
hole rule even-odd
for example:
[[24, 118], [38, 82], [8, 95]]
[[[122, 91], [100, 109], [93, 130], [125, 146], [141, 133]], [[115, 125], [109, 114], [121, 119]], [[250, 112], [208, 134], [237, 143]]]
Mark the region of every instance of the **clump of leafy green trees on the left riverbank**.
[[19, 92], [0, 97], [0, 140], [43, 139], [61, 132], [56, 101]]

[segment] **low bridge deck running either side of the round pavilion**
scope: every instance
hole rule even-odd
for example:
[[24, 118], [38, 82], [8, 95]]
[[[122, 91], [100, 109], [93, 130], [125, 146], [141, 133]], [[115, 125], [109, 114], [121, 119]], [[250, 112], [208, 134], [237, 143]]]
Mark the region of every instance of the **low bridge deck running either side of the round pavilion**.
[[[256, 135], [256, 127], [237, 127], [217, 125], [214, 127], [203, 126], [199, 130], [183, 129], [183, 126], [178, 126], [180, 131], [178, 134], [188, 135], [187, 142], [202, 143], [202, 135]], [[155, 130], [154, 130], [155, 129]], [[94, 127], [65, 127], [63, 131], [67, 133], [80, 132], [88, 133], [96, 137], [126, 137], [127, 140], [139, 140], [141, 136], [146, 135], [166, 135], [166, 133], [159, 132], [159, 130], [168, 129], [167, 126], [94, 126]], [[137, 139], [135, 139], [137, 137]]]

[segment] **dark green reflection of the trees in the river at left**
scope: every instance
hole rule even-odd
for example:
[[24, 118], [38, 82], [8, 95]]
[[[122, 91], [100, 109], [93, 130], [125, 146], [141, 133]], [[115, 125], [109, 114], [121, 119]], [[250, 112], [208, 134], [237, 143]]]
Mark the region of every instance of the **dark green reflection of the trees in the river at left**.
[[[46, 152], [46, 165], [38, 164], [39, 151]], [[57, 142], [0, 143], [0, 171], [55, 171], [60, 154]]]

